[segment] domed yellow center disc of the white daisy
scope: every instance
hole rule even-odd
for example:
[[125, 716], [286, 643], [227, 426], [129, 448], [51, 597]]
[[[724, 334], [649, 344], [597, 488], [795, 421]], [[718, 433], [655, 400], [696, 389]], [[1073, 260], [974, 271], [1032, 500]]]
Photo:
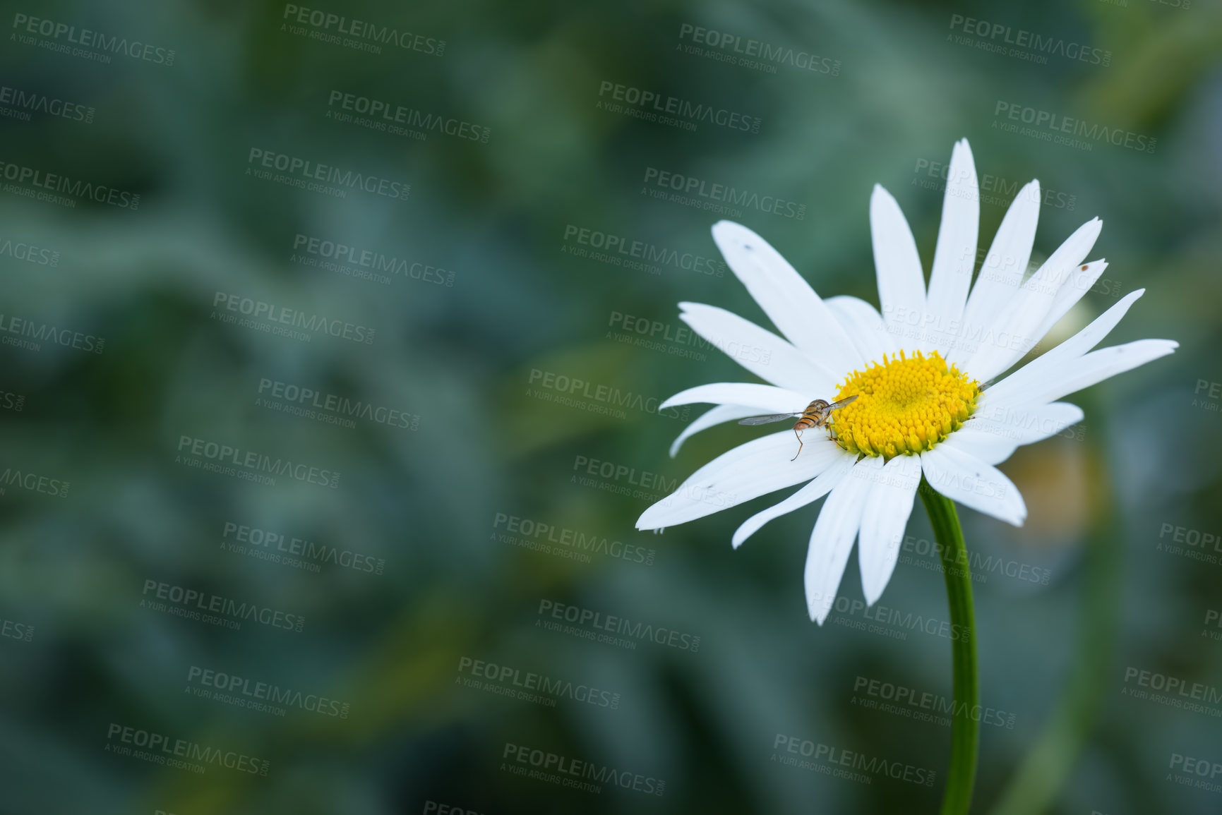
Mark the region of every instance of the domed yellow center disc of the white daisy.
[[882, 364], [871, 362], [844, 379], [836, 401], [857, 396], [832, 411], [829, 429], [836, 444], [852, 453], [893, 458], [919, 453], [963, 426], [976, 409], [980, 382], [938, 352], [920, 351]]

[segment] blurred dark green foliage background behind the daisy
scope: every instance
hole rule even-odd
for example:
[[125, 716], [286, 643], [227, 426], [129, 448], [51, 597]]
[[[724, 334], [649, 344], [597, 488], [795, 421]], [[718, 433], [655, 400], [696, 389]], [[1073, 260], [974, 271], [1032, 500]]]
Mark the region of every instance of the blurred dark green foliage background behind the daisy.
[[[877, 303], [873, 185], [899, 200], [927, 268], [940, 166], [962, 137], [987, 194], [981, 246], [1033, 177], [1053, 193], [1037, 257], [1105, 222], [1091, 255], [1108, 259], [1105, 279], [1058, 336], [1145, 287], [1108, 343], [1180, 342], [1069, 397], [1085, 422], [1002, 466], [1030, 510], [1023, 529], [962, 513], [993, 710], [974, 811], [1222, 811], [1218, 2], [44, 1], [5, 15], [4, 811], [934, 811], [945, 716], [882, 705], [895, 688], [948, 698], [949, 640], [855, 628], [873, 622], [853, 605], [855, 556], [838, 611], [808, 622], [818, 507], [737, 552], [731, 533], [772, 497], [664, 535], [633, 523], [750, 433], [699, 434], [671, 459], [699, 411], [649, 407], [749, 379], [676, 334], [684, 299], [764, 319], [709, 227], [741, 221], [821, 294]], [[1013, 55], [1019, 32], [1050, 50]], [[734, 53], [765, 46], [774, 59], [756, 64]], [[604, 83], [736, 111], [758, 132], [609, 110]], [[358, 99], [404, 109], [411, 132], [364, 126]], [[1037, 111], [1129, 145], [1057, 143], [1023, 123]], [[277, 181], [277, 155], [330, 191], [292, 167]], [[793, 206], [688, 205], [662, 172]], [[599, 257], [599, 236], [666, 259]], [[352, 254], [327, 265], [325, 242]], [[369, 264], [381, 279], [359, 274]], [[281, 321], [238, 323], [243, 299]], [[295, 314], [340, 336], [270, 331]], [[563, 393], [573, 379], [589, 385]], [[291, 402], [302, 389], [318, 396]], [[607, 409], [615, 398], [627, 407]], [[356, 402], [371, 409], [338, 422]], [[315, 473], [215, 472], [209, 444]], [[943, 621], [921, 511], [908, 533], [882, 605]], [[550, 535], [563, 543], [539, 547]], [[577, 535], [606, 550], [563, 556]], [[174, 601], [188, 590], [194, 605]], [[189, 616], [213, 598], [290, 624], [235, 605], [230, 622]], [[551, 630], [561, 606], [679, 645]], [[1202, 706], [1141, 695], [1168, 682]], [[627, 788], [530, 777], [530, 750]], [[832, 775], [848, 754], [874, 769]]]

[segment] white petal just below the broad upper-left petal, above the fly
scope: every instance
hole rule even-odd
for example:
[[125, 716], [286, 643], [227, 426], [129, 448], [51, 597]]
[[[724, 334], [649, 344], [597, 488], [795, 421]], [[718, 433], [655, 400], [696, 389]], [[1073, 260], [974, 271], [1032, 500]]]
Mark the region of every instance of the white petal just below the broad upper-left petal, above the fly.
[[832, 373], [788, 342], [732, 312], [703, 303], [679, 303], [679, 319], [731, 359], [778, 387], [798, 392], [831, 390]]

